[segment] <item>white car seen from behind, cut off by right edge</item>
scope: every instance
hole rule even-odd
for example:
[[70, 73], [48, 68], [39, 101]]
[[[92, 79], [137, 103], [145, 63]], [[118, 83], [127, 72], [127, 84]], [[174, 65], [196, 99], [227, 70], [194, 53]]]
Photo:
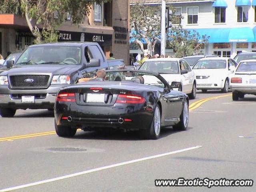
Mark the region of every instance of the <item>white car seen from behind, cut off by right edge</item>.
[[242, 60], [231, 76], [232, 98], [238, 101], [245, 94], [256, 95], [256, 59]]

